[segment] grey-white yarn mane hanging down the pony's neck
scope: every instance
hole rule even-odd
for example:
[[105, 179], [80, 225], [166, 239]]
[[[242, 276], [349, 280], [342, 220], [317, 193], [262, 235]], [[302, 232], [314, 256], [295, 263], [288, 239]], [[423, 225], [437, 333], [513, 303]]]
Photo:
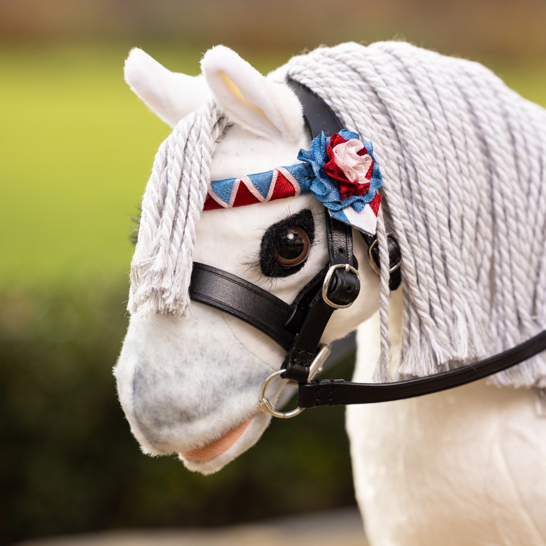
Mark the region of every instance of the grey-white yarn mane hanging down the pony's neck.
[[[543, 108], [480, 64], [403, 42], [320, 48], [284, 68], [371, 140], [381, 165], [380, 259], [385, 223], [403, 257], [396, 378], [458, 367], [546, 328]], [[390, 380], [387, 287], [383, 272], [376, 381]], [[537, 355], [491, 381], [544, 388], [546, 363]]]

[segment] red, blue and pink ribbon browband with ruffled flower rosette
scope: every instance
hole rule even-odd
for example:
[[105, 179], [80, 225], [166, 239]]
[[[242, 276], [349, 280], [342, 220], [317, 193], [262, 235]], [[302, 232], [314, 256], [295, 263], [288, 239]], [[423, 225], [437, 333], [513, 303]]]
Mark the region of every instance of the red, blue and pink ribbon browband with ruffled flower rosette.
[[213, 180], [204, 210], [227, 209], [312, 193], [330, 216], [375, 235], [382, 185], [370, 142], [342, 129], [328, 138], [321, 133], [310, 150], [300, 150], [302, 163], [266, 173]]

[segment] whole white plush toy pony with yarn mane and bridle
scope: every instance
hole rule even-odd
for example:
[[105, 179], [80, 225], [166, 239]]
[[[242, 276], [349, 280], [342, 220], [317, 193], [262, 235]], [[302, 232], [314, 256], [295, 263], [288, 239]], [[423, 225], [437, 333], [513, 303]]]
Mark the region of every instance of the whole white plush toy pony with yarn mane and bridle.
[[[143, 451], [210, 474], [272, 415], [348, 404], [370, 544], [545, 544], [546, 111], [402, 42], [201, 70], [125, 68], [173, 127], [115, 367]], [[357, 327], [372, 383], [311, 381]]]

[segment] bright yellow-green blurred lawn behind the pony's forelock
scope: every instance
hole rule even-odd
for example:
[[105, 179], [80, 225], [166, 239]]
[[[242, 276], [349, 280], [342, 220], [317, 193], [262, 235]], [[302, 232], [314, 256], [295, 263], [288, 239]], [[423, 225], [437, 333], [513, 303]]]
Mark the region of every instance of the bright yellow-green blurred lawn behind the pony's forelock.
[[[177, 72], [199, 50], [151, 47]], [[128, 46], [0, 50], [0, 280], [129, 269], [130, 218], [170, 129], [123, 81]], [[264, 72], [286, 61], [256, 55]]]

